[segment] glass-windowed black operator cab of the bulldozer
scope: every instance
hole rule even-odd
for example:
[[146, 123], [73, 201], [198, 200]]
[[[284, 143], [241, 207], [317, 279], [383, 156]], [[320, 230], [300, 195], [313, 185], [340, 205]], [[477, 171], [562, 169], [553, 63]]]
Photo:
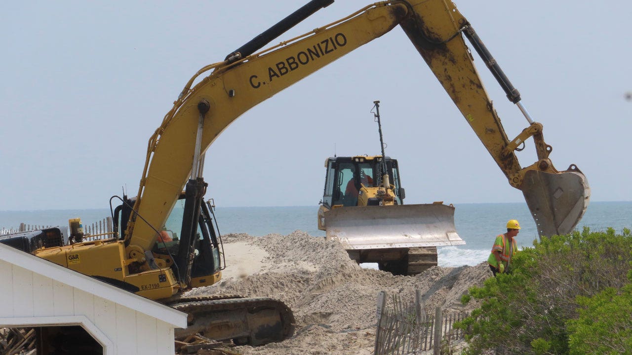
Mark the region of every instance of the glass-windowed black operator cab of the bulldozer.
[[[386, 157], [386, 169], [394, 188], [396, 204], [402, 205], [404, 189], [401, 188], [396, 159]], [[325, 164], [325, 190], [322, 203], [327, 208], [334, 206], [353, 207], [358, 205], [358, 191], [365, 186], [382, 185], [384, 176], [382, 157], [331, 157]], [[390, 186], [387, 186], [390, 188]]]

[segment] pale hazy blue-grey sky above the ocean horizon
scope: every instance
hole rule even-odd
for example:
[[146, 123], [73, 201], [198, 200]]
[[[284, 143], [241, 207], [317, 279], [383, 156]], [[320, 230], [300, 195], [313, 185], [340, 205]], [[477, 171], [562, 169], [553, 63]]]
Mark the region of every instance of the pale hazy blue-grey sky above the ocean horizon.
[[[0, 210], [107, 208], [138, 189], [147, 140], [186, 81], [305, 1], [4, 1]], [[273, 41], [370, 4], [337, 0]], [[632, 200], [629, 1], [456, 2], [520, 90], [557, 169]], [[527, 126], [475, 54], [507, 135]], [[408, 203], [521, 202], [401, 28], [254, 107], [207, 152], [218, 206], [316, 206], [325, 158], [386, 153]], [[535, 162], [533, 141], [518, 153]], [[590, 207], [589, 207], [590, 208]]]

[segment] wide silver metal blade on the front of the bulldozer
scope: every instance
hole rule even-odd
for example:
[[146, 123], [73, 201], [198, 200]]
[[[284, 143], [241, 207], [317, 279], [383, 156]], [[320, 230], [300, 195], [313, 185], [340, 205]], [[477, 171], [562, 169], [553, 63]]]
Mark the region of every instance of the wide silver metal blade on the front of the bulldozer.
[[346, 250], [465, 244], [456, 234], [454, 207], [440, 203], [339, 207], [324, 217], [326, 238]]

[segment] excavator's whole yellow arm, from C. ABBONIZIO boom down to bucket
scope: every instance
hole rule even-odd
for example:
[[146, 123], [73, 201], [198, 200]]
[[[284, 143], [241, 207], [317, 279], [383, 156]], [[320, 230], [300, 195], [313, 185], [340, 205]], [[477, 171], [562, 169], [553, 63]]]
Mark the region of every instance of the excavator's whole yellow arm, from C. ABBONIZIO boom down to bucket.
[[[564, 176], [564, 172], [555, 171], [548, 160], [550, 147], [542, 140], [542, 126], [534, 123], [526, 129], [526, 133], [510, 141], [461, 36], [468, 28], [468, 22], [450, 1], [416, 0], [410, 3], [384, 1], [371, 4], [341, 20], [260, 52], [250, 54], [238, 50], [224, 61], [200, 69], [185, 85], [173, 109], [166, 114], [161, 126], [149, 140], [147, 160], [138, 190], [140, 198], [137, 198], [134, 207], [143, 220], [135, 220], [137, 214], [131, 215], [126, 242], [143, 250], [152, 248], [157, 236], [150, 225], [159, 228], [164, 224], [191, 175], [195, 157], [203, 162], [204, 151], [237, 117], [397, 25], [404, 28], [466, 121], [506, 174], [509, 183], [523, 191], [541, 191], [535, 200], [545, 200], [546, 203], [538, 202], [540, 207], [537, 208], [542, 210], [538, 210], [537, 222], [544, 218], [540, 216], [547, 215], [551, 209], [556, 210], [556, 203], [552, 202], [556, 195], [566, 196], [567, 190], [581, 190], [583, 210], [580, 214], [560, 212], [567, 221], [562, 224], [564, 229], [559, 229], [556, 222], [552, 229], [549, 226], [546, 226], [547, 229], [542, 228], [547, 231], [546, 235], [551, 234], [549, 230], [556, 231], [554, 234], [571, 231], [588, 203], [586, 192], [589, 190], [583, 174], [576, 168], [573, 171], [582, 183], [583, 190], [572, 182], [572, 186], [564, 188], [561, 193], [559, 189], [551, 192], [550, 187], [543, 190], [542, 181], [547, 176]], [[211, 70], [210, 75], [193, 85], [197, 78]], [[198, 110], [200, 102], [208, 104], [205, 114]], [[201, 116], [204, 116], [202, 153], [198, 155], [193, 152]], [[523, 169], [513, 150], [514, 145], [520, 143], [518, 140], [528, 136], [533, 136], [538, 145], [538, 162]], [[535, 174], [530, 174], [531, 171], [535, 171]]]

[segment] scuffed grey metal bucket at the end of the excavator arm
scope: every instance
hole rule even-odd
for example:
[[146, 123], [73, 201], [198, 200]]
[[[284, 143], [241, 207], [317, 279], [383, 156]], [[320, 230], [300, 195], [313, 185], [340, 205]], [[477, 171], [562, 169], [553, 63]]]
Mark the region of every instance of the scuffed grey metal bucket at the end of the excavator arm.
[[557, 174], [527, 171], [521, 190], [540, 238], [572, 232], [590, 199], [586, 176], [575, 165]]

